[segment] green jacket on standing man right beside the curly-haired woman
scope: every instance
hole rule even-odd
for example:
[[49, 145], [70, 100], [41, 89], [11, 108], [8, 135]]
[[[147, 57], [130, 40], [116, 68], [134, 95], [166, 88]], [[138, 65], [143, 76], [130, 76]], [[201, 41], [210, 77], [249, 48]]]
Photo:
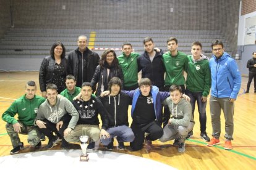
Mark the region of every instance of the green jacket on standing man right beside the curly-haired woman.
[[128, 57], [124, 52], [117, 57], [124, 75], [124, 86], [130, 87], [138, 83], [138, 63], [140, 54], [132, 52]]

